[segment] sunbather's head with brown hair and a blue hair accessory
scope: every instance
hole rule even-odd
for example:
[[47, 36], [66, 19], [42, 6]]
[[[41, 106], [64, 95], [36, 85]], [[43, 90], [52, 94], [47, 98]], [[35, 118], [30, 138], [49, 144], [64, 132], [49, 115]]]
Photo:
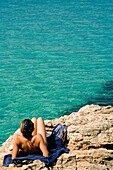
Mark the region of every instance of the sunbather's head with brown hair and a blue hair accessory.
[[30, 119], [24, 119], [20, 124], [20, 131], [25, 138], [30, 138], [34, 130], [34, 124]]

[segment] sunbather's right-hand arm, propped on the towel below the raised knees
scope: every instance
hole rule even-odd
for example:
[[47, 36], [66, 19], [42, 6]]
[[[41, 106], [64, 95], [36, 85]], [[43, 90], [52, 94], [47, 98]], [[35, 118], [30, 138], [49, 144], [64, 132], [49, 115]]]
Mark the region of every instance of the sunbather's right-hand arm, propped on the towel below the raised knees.
[[37, 139], [39, 140], [39, 148], [42, 151], [43, 156], [49, 156], [47, 146], [44, 143], [43, 137], [41, 134], [37, 134]]

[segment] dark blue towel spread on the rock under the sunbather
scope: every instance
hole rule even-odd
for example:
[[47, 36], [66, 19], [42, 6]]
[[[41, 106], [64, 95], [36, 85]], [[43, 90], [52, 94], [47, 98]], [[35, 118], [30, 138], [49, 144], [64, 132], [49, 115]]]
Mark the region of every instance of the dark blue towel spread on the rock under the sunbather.
[[32, 154], [32, 155], [26, 155], [26, 156], [21, 156], [21, 157], [16, 157], [15, 159], [12, 160], [12, 155], [8, 154], [4, 156], [3, 160], [3, 166], [9, 166], [12, 162], [15, 163], [17, 160], [40, 160], [44, 162], [46, 165], [50, 165], [53, 163], [62, 153], [68, 153], [69, 149], [65, 147], [62, 143], [62, 139], [59, 138], [58, 136], [52, 134], [49, 137], [47, 137], [48, 140], [48, 150], [49, 150], [49, 156], [44, 157], [40, 154]]

